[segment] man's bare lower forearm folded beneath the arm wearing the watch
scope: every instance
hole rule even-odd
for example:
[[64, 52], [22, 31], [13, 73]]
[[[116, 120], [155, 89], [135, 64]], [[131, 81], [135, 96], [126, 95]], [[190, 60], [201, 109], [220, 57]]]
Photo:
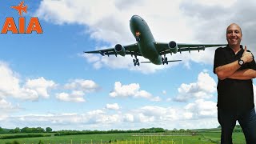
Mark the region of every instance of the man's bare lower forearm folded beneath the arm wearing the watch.
[[252, 78], [256, 78], [256, 70], [253, 69], [245, 69], [245, 70], [238, 70], [234, 72], [234, 74], [230, 75], [232, 79], [239, 79], [239, 80], [248, 80]]

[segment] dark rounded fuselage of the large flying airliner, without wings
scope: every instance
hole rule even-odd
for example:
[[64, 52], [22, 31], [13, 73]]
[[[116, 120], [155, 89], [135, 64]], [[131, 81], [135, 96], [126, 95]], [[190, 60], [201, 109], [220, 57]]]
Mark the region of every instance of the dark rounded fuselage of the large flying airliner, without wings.
[[134, 15], [130, 18], [130, 31], [134, 34], [134, 38], [139, 38], [138, 48], [142, 56], [156, 65], [161, 65], [162, 57], [154, 46], [155, 40], [146, 21], [138, 15]]

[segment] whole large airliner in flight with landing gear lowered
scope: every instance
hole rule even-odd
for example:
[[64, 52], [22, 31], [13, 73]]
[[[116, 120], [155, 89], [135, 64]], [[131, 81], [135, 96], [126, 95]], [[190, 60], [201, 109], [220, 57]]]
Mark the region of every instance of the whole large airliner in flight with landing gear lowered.
[[[186, 44], [186, 43], [176, 43], [174, 41], [170, 42], [156, 42], [154, 40], [153, 34], [150, 31], [150, 27], [147, 25], [146, 21], [138, 15], [133, 15], [130, 18], [130, 31], [136, 39], [136, 43], [122, 46], [117, 44], [114, 48], [104, 49], [104, 50], [93, 50], [84, 51], [88, 54], [102, 54], [102, 56], [110, 55], [122, 55], [130, 54], [131, 57], [134, 56], [133, 62], [134, 66], [139, 66], [138, 56], [142, 56], [150, 60], [150, 62], [141, 63], [154, 63], [155, 65], [168, 65], [168, 62], [178, 62], [181, 60], [171, 60], [168, 61], [166, 54], [176, 54], [177, 52], [182, 53], [182, 51], [192, 51], [192, 50], [205, 50], [206, 47], [215, 46], [226, 46], [226, 44]], [[162, 57], [163, 55], [163, 57]]]

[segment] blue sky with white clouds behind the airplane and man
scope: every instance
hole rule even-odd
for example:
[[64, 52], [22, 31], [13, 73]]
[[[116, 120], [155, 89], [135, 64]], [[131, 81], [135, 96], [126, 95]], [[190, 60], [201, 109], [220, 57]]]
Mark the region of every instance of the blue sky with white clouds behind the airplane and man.
[[[0, 26], [6, 17], [18, 25], [10, 6], [19, 2], [1, 2]], [[38, 17], [43, 34], [0, 34], [0, 126], [5, 128], [217, 127], [215, 48], [169, 54], [182, 62], [168, 66], [134, 67], [130, 55], [83, 54], [134, 43], [129, 27], [134, 14], [146, 20], [158, 42], [226, 43], [226, 26], [237, 22], [242, 44], [254, 53], [253, 1], [27, 0], [25, 5], [26, 25]]]

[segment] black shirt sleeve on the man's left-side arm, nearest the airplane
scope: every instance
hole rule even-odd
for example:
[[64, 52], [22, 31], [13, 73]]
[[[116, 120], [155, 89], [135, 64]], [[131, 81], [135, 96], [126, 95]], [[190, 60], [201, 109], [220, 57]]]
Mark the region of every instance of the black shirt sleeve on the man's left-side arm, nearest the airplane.
[[214, 74], [216, 74], [215, 69], [218, 66], [223, 66], [225, 65], [225, 54], [224, 51], [222, 50], [222, 47], [219, 47], [217, 50], [215, 50], [214, 54]]

